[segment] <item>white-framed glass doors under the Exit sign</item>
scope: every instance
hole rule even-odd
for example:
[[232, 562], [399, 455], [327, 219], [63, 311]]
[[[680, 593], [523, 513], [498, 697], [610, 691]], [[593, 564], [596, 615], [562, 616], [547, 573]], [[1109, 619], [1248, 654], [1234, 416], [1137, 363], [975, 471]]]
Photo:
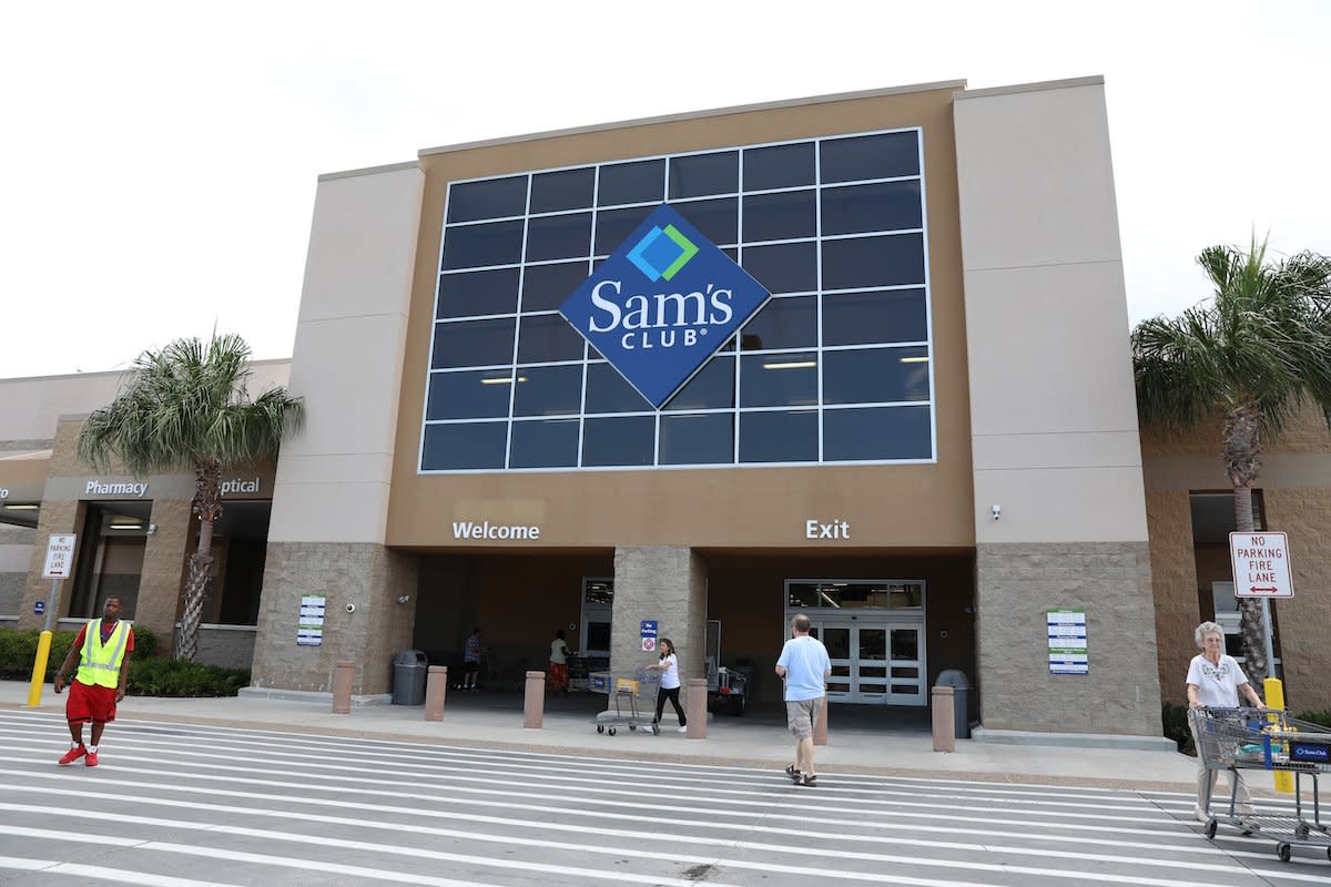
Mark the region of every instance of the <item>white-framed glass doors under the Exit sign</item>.
[[924, 582], [791, 580], [787, 622], [804, 613], [828, 648], [828, 699], [925, 705]]

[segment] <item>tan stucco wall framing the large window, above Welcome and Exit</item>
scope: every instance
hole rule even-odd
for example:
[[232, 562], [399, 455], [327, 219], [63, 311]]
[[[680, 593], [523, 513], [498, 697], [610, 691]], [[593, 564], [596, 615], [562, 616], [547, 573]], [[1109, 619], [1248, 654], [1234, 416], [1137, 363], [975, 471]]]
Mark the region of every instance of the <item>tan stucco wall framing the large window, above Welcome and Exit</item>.
[[[848, 520], [837, 548], [970, 547], [966, 354], [953, 154], [952, 85], [924, 92], [739, 110], [660, 124], [429, 153], [411, 326], [402, 362], [390, 545], [458, 547], [453, 520], [540, 525], [524, 548], [744, 545], [827, 548], [809, 519]], [[679, 471], [417, 473], [443, 205], [450, 180], [836, 133], [924, 130], [938, 461], [928, 465]], [[920, 503], [928, 503], [921, 508]]]

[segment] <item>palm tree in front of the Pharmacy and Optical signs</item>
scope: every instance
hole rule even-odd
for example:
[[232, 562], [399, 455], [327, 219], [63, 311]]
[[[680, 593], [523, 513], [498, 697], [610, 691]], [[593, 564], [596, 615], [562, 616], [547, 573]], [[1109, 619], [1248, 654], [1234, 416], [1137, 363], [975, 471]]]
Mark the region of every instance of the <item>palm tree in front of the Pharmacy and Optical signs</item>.
[[269, 388], [248, 392], [250, 347], [236, 335], [209, 342], [177, 339], [134, 360], [110, 404], [88, 416], [79, 432], [79, 457], [96, 469], [118, 459], [136, 477], [194, 471], [193, 512], [198, 549], [189, 559], [185, 609], [176, 657], [198, 652], [198, 622], [213, 564], [213, 524], [222, 513], [222, 473], [277, 456], [287, 434], [305, 424], [301, 398]]

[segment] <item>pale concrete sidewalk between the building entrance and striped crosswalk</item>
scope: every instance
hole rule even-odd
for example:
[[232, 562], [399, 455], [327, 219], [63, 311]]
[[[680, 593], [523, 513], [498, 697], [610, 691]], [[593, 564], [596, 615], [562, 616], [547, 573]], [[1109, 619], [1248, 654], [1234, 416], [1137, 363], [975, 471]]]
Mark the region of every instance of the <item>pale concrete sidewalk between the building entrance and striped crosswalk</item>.
[[[28, 685], [0, 681], [0, 707], [24, 709]], [[425, 706], [370, 705], [351, 714], [331, 714], [329, 702], [230, 697], [220, 699], [166, 699], [128, 697], [118, 719], [214, 723], [226, 727], [309, 731], [568, 755], [676, 761], [691, 763], [781, 767], [793, 757], [793, 739], [779, 718], [715, 715], [707, 739], [687, 739], [666, 715], [660, 735], [620, 727], [611, 737], [598, 734], [591, 721], [606, 697], [572, 696], [547, 699], [544, 726], [522, 726], [520, 693], [462, 694], [449, 690], [442, 722], [426, 722]], [[40, 710], [64, 711], [64, 697], [48, 684]], [[1189, 789], [1195, 785], [1195, 762], [1175, 751], [1078, 749], [1075, 746], [996, 745], [958, 739], [950, 754], [933, 751], [922, 718], [901, 723], [881, 717], [841, 717], [832, 709], [828, 745], [817, 750], [819, 769], [827, 773], [1000, 779], [1059, 785]], [[849, 713], [847, 713], [849, 715]], [[858, 713], [856, 713], [858, 714]], [[106, 733], [114, 742], [114, 726]], [[61, 735], [52, 734], [60, 745]], [[1255, 782], [1255, 781], [1254, 781]]]

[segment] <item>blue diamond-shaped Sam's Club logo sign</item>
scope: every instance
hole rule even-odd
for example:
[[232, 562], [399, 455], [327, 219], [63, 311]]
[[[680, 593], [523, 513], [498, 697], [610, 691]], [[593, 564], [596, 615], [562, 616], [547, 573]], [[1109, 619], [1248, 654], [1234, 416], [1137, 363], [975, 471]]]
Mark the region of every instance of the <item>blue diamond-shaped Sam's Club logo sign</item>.
[[559, 311], [660, 408], [769, 295], [662, 203]]

